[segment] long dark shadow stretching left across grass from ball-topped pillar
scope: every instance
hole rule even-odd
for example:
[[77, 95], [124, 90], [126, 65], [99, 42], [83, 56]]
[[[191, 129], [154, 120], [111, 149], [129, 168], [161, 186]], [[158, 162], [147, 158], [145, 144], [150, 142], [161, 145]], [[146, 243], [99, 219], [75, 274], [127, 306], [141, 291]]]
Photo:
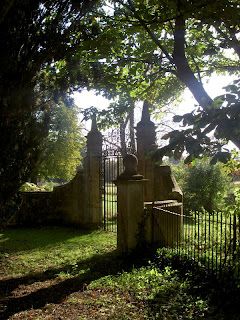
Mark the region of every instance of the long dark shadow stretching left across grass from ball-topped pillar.
[[[116, 251], [103, 255], [95, 255], [77, 263], [77, 268], [72, 265], [62, 268], [52, 268], [43, 273], [34, 273], [28, 276], [0, 281], [0, 319], [8, 319], [20, 311], [38, 309], [48, 303], [60, 303], [71, 293], [83, 291], [86, 286], [103, 276], [116, 275], [120, 272], [131, 270], [132, 267], [146, 264], [148, 259], [142, 259], [137, 254], [122, 257]], [[71, 272], [72, 270], [72, 272]], [[79, 275], [79, 272], [82, 273]], [[35, 292], [21, 297], [12, 297], [11, 292], [20, 285], [30, 285], [37, 281], [46, 281], [57, 278], [61, 272], [70, 272], [71, 278], [48, 288], [41, 288]], [[75, 274], [75, 275], [74, 275]]]

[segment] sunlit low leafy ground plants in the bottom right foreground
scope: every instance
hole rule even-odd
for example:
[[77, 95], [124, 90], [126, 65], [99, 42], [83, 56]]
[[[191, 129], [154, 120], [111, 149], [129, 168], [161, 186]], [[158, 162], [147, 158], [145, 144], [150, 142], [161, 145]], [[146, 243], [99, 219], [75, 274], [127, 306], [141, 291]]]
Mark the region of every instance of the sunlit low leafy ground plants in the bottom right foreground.
[[104, 277], [90, 288], [111, 287], [116, 291], [128, 291], [137, 301], [148, 306], [150, 319], [204, 319], [207, 301], [192, 296], [190, 283], [182, 281], [170, 267], [157, 268], [154, 264], [133, 269], [131, 272]]

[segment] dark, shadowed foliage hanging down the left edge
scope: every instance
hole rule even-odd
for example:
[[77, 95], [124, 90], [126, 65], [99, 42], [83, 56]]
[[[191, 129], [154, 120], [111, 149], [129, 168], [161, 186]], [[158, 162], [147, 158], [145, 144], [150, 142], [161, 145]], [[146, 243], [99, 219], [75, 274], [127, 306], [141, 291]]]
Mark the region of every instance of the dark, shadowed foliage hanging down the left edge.
[[[73, 70], [71, 56], [76, 46], [95, 37], [91, 16], [95, 4], [84, 0], [78, 4], [72, 0], [2, 1], [1, 217], [10, 214], [14, 194], [35, 168], [41, 141], [48, 134], [49, 101], [65, 96], [63, 90], [69, 88], [63, 65]], [[74, 83], [73, 72], [72, 79]], [[78, 78], [79, 86], [85, 83], [86, 77]]]

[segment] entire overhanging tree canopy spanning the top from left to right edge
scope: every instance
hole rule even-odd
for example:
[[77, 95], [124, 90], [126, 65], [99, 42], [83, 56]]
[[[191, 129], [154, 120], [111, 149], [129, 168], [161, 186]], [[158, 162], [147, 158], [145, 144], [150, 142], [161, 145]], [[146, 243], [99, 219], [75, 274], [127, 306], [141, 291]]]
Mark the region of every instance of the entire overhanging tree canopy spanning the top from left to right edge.
[[213, 72], [239, 73], [239, 20], [238, 0], [3, 0], [2, 214], [38, 163], [52, 101], [68, 103], [81, 87], [154, 107], [187, 87], [199, 109], [176, 119], [190, 127], [172, 133], [170, 149], [197, 155], [210, 129], [240, 147], [239, 82], [223, 103], [213, 101], [202, 84]]

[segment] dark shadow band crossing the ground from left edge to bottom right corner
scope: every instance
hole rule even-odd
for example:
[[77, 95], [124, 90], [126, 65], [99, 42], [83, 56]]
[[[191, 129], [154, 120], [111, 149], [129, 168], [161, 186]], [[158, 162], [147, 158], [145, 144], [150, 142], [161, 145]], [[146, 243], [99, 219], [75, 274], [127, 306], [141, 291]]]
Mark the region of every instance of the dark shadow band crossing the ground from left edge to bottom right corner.
[[[118, 255], [115, 250], [106, 254], [96, 254], [86, 260], [80, 260], [74, 266], [69, 264], [60, 268], [48, 269], [42, 273], [33, 273], [24, 277], [0, 281], [0, 293], [3, 296], [2, 301], [0, 301], [0, 304], [2, 304], [2, 308], [0, 306], [0, 319], [8, 319], [21, 311], [43, 308], [46, 304], [59, 304], [70, 294], [83, 291], [92, 281], [104, 276], [130, 271], [133, 267], [138, 268], [147, 265], [149, 259], [154, 259], [154, 265], [159, 270], [166, 266], [178, 270], [179, 277], [187, 278], [191, 283], [190, 294], [196, 297], [208, 297], [212, 310], [209, 310], [205, 319], [240, 319], [238, 317], [239, 290], [234, 289], [230, 283], [224, 287], [223, 283], [206, 274], [203, 269], [199, 269], [199, 266], [193, 261], [182, 260], [177, 255], [168, 257], [164, 252], [156, 256], [154, 251], [150, 250], [135, 252], [134, 255], [127, 257]], [[71, 278], [60, 280], [60, 282], [47, 288], [37, 289], [37, 291], [24, 296], [14, 297], [11, 295], [12, 291], [21, 285], [54, 280], [60, 273], [67, 273], [71, 275]], [[150, 303], [149, 307], [155, 314], [154, 312], [159, 309], [158, 305], [161, 304], [161, 295], [155, 295]], [[198, 318], [193, 317], [193, 319]]]

